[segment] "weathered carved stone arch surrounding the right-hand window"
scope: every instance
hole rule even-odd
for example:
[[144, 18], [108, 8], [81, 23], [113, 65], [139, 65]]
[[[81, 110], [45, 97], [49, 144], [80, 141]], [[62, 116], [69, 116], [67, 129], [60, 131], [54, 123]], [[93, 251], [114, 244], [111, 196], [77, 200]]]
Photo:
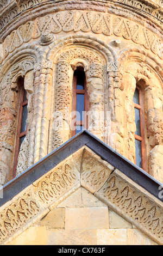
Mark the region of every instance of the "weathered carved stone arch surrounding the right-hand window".
[[[144, 81], [142, 90], [145, 97], [145, 126], [146, 126], [146, 148], [147, 148], [147, 165], [148, 172], [150, 173], [149, 156], [151, 150], [156, 145], [163, 144], [163, 112], [162, 112], [162, 81], [163, 81], [163, 69], [162, 65], [140, 48], [130, 48], [123, 52], [120, 52], [118, 61], [124, 66], [122, 87], [126, 95], [126, 147], [131, 148], [128, 143], [132, 141], [132, 152], [128, 152], [128, 155], [132, 155], [134, 159], [134, 134], [135, 127], [135, 113], [133, 95], [136, 88], [136, 83], [140, 80]], [[156, 82], [158, 81], [158, 83]], [[127, 150], [128, 151], [128, 150]], [[127, 156], [129, 159], [129, 156]], [[133, 159], [130, 159], [133, 161]], [[158, 177], [155, 177], [156, 179]]]

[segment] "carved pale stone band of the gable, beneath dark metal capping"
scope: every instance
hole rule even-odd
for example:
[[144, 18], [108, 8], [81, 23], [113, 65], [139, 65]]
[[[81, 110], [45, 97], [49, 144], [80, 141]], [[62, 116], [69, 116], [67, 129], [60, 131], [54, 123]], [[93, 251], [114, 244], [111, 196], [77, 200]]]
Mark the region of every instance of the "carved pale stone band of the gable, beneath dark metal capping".
[[163, 244], [163, 204], [84, 146], [0, 209], [1, 245], [47, 214], [80, 186]]

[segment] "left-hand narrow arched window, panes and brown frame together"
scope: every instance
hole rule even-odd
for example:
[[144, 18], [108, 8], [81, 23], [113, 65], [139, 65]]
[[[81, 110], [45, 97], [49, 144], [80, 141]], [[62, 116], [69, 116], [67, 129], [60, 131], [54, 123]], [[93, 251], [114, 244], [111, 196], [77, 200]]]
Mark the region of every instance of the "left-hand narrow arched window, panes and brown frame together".
[[22, 77], [19, 78], [17, 81], [17, 84], [18, 84], [18, 88], [20, 90], [20, 104], [19, 104], [19, 109], [18, 109], [16, 147], [15, 147], [14, 167], [13, 167], [12, 178], [15, 178], [15, 176], [16, 176], [18, 154], [20, 151], [21, 144], [27, 135], [28, 100], [27, 100], [27, 92], [24, 89], [24, 79]]

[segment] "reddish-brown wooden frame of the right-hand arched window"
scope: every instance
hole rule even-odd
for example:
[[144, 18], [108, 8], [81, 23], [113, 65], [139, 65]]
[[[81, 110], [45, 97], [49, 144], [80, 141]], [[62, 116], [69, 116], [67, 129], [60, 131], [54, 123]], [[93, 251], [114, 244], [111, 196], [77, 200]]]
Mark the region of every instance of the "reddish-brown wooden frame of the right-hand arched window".
[[[135, 139], [141, 142], [141, 159], [142, 159], [142, 169], [147, 171], [147, 162], [146, 162], [146, 139], [145, 139], [145, 118], [144, 118], [144, 107], [143, 107], [143, 92], [139, 85], [136, 85], [136, 89], [139, 92], [139, 104], [134, 103], [134, 108], [139, 109], [140, 111], [140, 133], [141, 136], [135, 134]], [[134, 159], [136, 164], [136, 155]]]

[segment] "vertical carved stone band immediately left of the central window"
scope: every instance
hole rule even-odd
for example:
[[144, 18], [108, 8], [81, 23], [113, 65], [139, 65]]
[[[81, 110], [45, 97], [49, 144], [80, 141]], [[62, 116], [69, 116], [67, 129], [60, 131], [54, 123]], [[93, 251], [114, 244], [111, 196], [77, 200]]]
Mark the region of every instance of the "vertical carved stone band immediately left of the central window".
[[[59, 58], [60, 59], [60, 58]], [[61, 59], [60, 59], [61, 60]], [[64, 127], [65, 109], [71, 111], [72, 85], [70, 86], [71, 65], [60, 61], [57, 64], [57, 78], [55, 82], [55, 99], [52, 125], [52, 150], [59, 147], [67, 141], [70, 136], [70, 130]], [[69, 117], [69, 113], [68, 113]], [[67, 120], [67, 125], [70, 120]], [[66, 136], [66, 137], [65, 137]]]

